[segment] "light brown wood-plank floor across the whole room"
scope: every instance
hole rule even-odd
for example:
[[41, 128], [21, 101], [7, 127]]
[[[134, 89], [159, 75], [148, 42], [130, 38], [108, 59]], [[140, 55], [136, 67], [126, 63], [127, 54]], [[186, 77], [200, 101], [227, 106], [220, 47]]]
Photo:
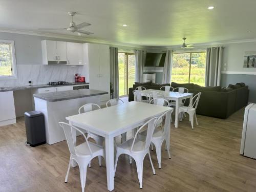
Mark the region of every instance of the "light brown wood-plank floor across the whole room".
[[[256, 191], [256, 160], [239, 155], [243, 110], [226, 120], [198, 116], [200, 125], [190, 129], [184, 119], [175, 129], [172, 124], [171, 152], [162, 153], [162, 169], [156, 154], [144, 160], [143, 191]], [[24, 119], [0, 127], [0, 191], [81, 191], [79, 169], [71, 168], [64, 183], [69, 151], [66, 141], [54, 145], [25, 145]], [[78, 139], [81, 142], [81, 138]], [[114, 191], [139, 189], [136, 165], [121, 156]], [[86, 191], [107, 191], [106, 170], [97, 158], [88, 168]]]

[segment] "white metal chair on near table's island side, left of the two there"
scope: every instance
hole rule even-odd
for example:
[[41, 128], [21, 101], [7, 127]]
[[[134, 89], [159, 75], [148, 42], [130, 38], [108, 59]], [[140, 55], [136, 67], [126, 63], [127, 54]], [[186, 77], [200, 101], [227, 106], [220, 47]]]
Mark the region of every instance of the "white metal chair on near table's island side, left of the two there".
[[[83, 109], [83, 112], [82, 112]], [[78, 113], [86, 113], [89, 111], [93, 111], [93, 110], [99, 110], [100, 106], [98, 104], [95, 103], [87, 103], [82, 105], [79, 109], [78, 109]], [[92, 138], [93, 140], [95, 140], [95, 142], [102, 146], [103, 145], [103, 141], [104, 141], [104, 137], [101, 137], [99, 135], [96, 135], [94, 133], [88, 132], [87, 131], [87, 138]], [[101, 157], [99, 156], [99, 166], [101, 166]], [[91, 163], [89, 163], [89, 167], [91, 167]]]

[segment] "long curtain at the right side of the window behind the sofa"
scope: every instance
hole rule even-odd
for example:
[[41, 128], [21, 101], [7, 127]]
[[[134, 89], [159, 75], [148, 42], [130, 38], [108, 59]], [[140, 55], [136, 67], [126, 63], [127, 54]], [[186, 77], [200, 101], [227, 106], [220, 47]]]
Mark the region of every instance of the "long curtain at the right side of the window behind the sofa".
[[211, 47], [207, 49], [205, 87], [220, 86], [222, 54], [223, 47]]

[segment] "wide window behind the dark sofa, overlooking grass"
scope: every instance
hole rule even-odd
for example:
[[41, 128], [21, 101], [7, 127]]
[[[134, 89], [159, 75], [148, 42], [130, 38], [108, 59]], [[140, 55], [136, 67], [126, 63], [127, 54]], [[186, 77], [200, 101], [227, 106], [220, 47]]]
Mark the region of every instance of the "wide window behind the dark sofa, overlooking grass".
[[174, 53], [171, 81], [205, 86], [206, 52]]

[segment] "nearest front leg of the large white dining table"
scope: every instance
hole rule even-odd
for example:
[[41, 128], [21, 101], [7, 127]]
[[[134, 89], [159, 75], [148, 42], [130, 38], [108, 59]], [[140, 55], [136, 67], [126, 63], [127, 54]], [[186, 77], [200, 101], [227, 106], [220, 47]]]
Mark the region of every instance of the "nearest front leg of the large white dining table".
[[108, 182], [108, 190], [114, 190], [114, 138], [112, 136], [105, 137], [106, 150], [106, 180]]

